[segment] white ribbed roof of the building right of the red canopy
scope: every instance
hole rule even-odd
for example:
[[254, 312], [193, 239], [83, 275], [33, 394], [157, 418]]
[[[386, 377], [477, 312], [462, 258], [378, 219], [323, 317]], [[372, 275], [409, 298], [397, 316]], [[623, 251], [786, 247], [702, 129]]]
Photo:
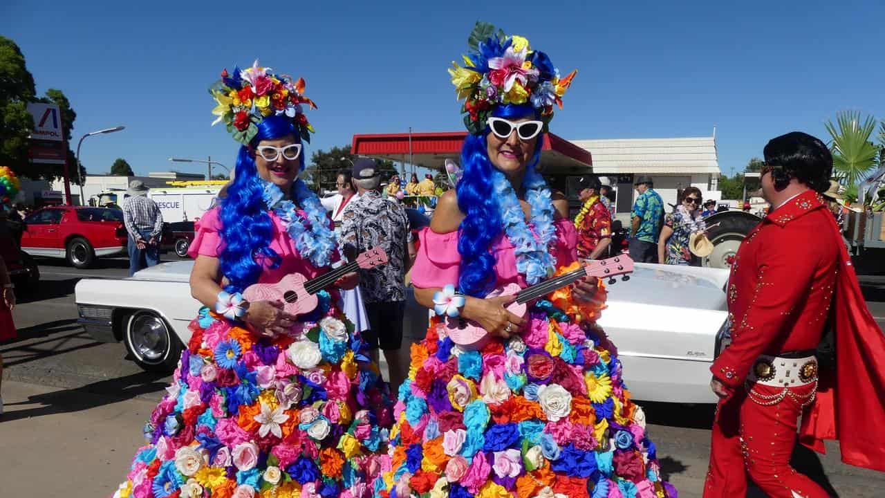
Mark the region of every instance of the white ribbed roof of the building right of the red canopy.
[[598, 175], [721, 175], [716, 138], [623, 138], [572, 140], [593, 154]]

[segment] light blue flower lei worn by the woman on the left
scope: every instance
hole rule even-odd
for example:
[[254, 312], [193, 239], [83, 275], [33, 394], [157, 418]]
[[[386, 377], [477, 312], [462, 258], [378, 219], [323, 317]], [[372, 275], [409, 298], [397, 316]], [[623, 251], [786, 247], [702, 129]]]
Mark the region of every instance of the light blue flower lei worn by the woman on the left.
[[261, 197], [265, 201], [267, 209], [275, 213], [283, 223], [289, 236], [295, 241], [295, 247], [303, 258], [311, 261], [316, 268], [328, 266], [332, 261], [332, 253], [337, 246], [335, 232], [328, 227], [326, 208], [319, 202], [319, 198], [307, 188], [307, 185], [298, 179], [292, 185], [295, 191], [295, 199], [299, 206], [307, 214], [307, 222], [310, 230], [304, 226], [301, 215], [298, 214], [296, 204], [285, 199], [285, 194], [271, 182], [259, 180], [264, 184]]

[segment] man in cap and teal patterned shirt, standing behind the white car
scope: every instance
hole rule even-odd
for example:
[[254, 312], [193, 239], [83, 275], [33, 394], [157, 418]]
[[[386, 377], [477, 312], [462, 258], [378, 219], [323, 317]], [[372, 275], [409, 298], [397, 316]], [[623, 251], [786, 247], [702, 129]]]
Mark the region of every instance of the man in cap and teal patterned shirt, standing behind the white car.
[[664, 224], [664, 201], [649, 176], [635, 181], [639, 197], [630, 213], [630, 257], [642, 263], [658, 262], [658, 236]]

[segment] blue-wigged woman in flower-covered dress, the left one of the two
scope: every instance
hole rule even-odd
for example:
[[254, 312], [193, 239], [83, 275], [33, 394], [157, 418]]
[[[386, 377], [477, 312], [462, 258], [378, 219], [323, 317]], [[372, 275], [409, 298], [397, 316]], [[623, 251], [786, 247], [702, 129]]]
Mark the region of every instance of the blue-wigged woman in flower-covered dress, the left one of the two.
[[214, 113], [242, 144], [235, 180], [199, 222], [190, 284], [204, 307], [115, 496], [371, 494], [393, 419], [338, 292], [319, 292], [319, 307], [297, 317], [240, 295], [291, 273], [319, 276], [338, 259], [325, 209], [297, 179], [312, 132], [302, 105], [315, 107], [303, 93], [304, 80], [257, 62], [212, 87]]

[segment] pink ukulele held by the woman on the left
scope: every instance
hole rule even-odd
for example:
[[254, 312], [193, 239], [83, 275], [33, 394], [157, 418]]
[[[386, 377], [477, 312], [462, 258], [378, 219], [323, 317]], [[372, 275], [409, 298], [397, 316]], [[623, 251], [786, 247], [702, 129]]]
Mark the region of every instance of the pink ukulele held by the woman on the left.
[[316, 293], [326, 288], [342, 276], [358, 268], [369, 269], [386, 265], [387, 253], [381, 247], [369, 249], [359, 254], [354, 261], [334, 270], [306, 280], [300, 273], [283, 276], [276, 284], [253, 284], [246, 288], [242, 297], [248, 301], [283, 301], [283, 310], [291, 315], [304, 315], [316, 309], [319, 299]]

